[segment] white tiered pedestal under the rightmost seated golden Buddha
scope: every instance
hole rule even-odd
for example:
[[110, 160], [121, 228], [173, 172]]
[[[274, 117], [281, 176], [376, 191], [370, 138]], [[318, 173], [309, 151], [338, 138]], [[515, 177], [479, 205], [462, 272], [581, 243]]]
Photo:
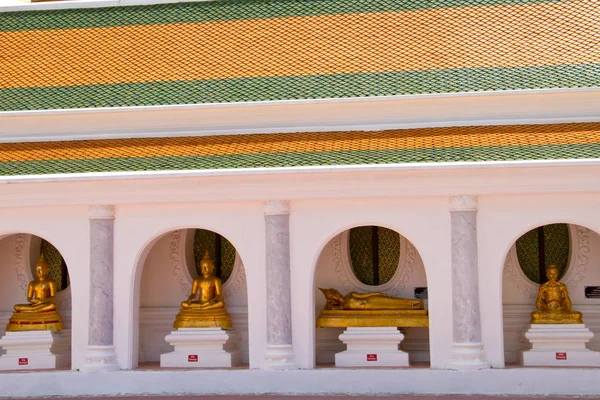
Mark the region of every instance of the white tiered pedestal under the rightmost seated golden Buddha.
[[532, 324], [525, 337], [532, 348], [519, 353], [523, 365], [600, 366], [600, 353], [585, 347], [594, 337], [585, 324]]

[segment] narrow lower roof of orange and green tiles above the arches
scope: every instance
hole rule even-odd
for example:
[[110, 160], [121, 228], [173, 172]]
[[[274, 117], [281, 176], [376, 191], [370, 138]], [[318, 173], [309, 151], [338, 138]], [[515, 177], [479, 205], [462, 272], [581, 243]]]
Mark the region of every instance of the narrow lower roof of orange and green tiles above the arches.
[[0, 175], [600, 158], [600, 123], [0, 144]]

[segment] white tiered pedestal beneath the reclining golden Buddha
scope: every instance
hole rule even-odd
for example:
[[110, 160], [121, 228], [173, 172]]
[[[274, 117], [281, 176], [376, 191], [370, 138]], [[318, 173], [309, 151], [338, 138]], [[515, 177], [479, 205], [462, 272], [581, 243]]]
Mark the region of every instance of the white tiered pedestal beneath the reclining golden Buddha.
[[335, 355], [336, 367], [408, 367], [408, 353], [399, 350], [404, 335], [398, 328], [346, 328], [340, 340], [346, 351]]

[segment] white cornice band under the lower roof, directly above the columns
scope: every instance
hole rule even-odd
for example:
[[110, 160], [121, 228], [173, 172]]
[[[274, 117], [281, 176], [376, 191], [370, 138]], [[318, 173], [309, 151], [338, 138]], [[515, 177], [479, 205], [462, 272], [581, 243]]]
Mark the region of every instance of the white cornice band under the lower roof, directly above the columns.
[[114, 176], [79, 176], [76, 179], [63, 176], [64, 180], [60, 177], [3, 178], [0, 206], [87, 207], [89, 204], [255, 201], [264, 207], [265, 199], [600, 193], [600, 160], [544, 166], [496, 165], [494, 168], [481, 165], [447, 169], [371, 167], [277, 173], [263, 170], [230, 175], [163, 173], [142, 175], [142, 179], [136, 174], [119, 175], [117, 179]]

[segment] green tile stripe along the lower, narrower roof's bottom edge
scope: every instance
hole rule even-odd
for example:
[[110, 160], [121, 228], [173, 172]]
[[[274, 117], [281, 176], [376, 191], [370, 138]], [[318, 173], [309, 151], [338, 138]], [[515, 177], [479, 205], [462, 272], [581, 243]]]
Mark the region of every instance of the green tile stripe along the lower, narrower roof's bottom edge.
[[590, 158], [600, 158], [600, 143], [17, 161], [0, 163], [0, 175]]

